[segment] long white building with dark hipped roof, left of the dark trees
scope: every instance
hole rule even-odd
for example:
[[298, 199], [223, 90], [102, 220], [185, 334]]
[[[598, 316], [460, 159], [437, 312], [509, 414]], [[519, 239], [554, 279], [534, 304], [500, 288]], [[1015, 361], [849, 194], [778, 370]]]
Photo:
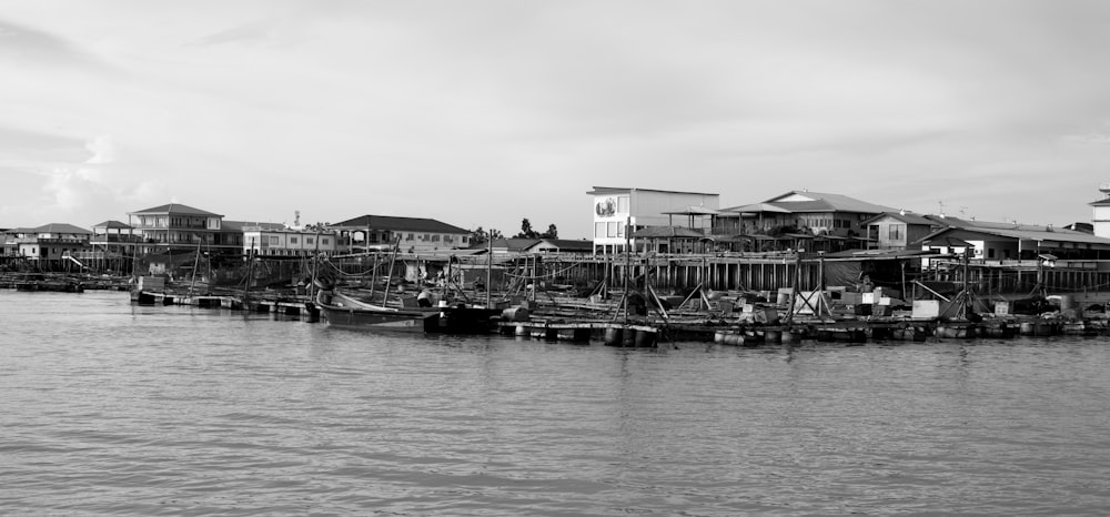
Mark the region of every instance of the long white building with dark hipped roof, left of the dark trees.
[[401, 252], [418, 253], [468, 247], [471, 232], [434, 219], [362, 215], [331, 224], [340, 245], [354, 253], [386, 251], [396, 244]]

